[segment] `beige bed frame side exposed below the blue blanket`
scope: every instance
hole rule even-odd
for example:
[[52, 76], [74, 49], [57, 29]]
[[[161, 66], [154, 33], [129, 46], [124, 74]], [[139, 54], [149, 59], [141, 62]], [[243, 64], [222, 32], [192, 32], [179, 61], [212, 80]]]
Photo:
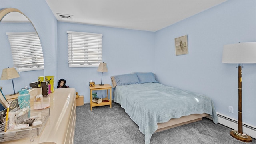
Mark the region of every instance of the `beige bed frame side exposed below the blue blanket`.
[[192, 122], [197, 122], [202, 120], [202, 118], [206, 116], [209, 116], [209, 114], [191, 114], [189, 116], [182, 116], [180, 118], [172, 118], [168, 122], [158, 123], [156, 132], [161, 132], [163, 130], [168, 130], [170, 128], [189, 124]]

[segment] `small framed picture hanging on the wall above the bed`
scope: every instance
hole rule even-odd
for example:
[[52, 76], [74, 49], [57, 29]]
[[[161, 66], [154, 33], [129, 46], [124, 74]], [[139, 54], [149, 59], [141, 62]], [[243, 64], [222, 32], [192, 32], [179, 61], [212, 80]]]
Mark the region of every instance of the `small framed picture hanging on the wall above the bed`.
[[175, 38], [175, 54], [176, 56], [188, 54], [188, 38], [187, 35]]

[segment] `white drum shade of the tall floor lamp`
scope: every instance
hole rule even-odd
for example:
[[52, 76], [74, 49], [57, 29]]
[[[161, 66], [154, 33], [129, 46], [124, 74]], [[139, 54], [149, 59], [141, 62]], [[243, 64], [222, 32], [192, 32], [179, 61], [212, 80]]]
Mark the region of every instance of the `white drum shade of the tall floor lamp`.
[[222, 52], [222, 63], [256, 63], [256, 42], [244, 42], [224, 45]]

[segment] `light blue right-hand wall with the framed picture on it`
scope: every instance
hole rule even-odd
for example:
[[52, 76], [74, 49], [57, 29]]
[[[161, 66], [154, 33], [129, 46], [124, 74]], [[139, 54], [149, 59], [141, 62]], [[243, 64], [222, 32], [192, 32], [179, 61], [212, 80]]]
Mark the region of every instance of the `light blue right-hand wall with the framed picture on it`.
[[[174, 39], [188, 35], [188, 54]], [[222, 64], [224, 44], [256, 42], [256, 1], [229, 0], [156, 32], [155, 72], [162, 84], [208, 95], [217, 112], [238, 118], [238, 69]], [[243, 122], [256, 126], [256, 64], [242, 68]], [[234, 113], [228, 112], [234, 107]]]

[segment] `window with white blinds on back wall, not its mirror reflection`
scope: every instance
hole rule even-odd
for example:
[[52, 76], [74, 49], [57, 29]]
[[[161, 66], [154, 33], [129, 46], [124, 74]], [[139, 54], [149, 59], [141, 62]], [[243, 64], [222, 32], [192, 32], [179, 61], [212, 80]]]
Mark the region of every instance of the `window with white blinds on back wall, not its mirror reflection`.
[[69, 67], [98, 67], [102, 62], [102, 34], [67, 33]]

